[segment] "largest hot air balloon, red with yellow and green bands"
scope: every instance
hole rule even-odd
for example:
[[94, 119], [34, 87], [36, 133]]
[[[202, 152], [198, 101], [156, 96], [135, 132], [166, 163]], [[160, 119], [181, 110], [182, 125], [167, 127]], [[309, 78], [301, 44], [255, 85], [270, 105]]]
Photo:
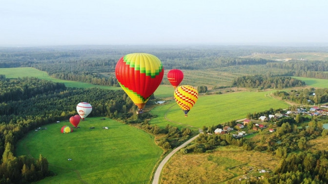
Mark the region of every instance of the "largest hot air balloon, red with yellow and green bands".
[[137, 113], [142, 113], [149, 97], [162, 82], [164, 68], [155, 55], [133, 53], [119, 59], [115, 74], [124, 92], [138, 106]]

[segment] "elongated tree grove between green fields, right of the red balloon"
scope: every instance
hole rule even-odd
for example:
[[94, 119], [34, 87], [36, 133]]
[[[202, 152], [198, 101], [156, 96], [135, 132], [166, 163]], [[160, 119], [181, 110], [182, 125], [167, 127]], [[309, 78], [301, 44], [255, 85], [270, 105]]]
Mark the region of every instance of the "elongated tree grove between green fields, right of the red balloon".
[[289, 76], [246, 75], [236, 78], [232, 82], [233, 86], [246, 88], [289, 88], [304, 86], [305, 82], [291, 78]]

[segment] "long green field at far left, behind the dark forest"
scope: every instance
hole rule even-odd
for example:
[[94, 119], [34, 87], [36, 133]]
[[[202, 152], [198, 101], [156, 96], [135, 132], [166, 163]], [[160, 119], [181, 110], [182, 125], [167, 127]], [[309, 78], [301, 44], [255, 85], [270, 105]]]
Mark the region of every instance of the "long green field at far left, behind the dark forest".
[[69, 88], [102, 88], [110, 90], [120, 90], [121, 88], [112, 86], [99, 86], [93, 85], [85, 82], [77, 82], [70, 80], [61, 80], [49, 76], [46, 72], [40, 71], [31, 67], [24, 68], [0, 68], [0, 74], [6, 75], [6, 78], [18, 78], [18, 77], [36, 77], [44, 80], [51, 80], [53, 82], [64, 83], [66, 87]]

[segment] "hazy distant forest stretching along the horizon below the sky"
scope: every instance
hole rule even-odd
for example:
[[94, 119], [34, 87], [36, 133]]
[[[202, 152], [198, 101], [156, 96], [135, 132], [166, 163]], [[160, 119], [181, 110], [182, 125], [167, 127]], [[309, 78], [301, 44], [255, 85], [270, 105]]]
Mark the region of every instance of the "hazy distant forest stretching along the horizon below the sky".
[[[325, 50], [326, 49], [326, 50]], [[245, 58], [254, 53], [286, 54], [326, 52], [326, 47], [259, 46], [66, 46], [0, 49], [0, 68], [33, 67], [50, 76], [96, 85], [118, 86], [114, 75], [116, 62], [128, 53], [146, 52], [159, 57], [165, 70], [206, 70], [229, 66], [259, 65], [264, 70], [280, 71], [285, 76], [328, 79], [325, 61], [291, 60], [281, 62]], [[246, 72], [246, 71], [245, 71]], [[263, 71], [254, 74], [263, 74]]]

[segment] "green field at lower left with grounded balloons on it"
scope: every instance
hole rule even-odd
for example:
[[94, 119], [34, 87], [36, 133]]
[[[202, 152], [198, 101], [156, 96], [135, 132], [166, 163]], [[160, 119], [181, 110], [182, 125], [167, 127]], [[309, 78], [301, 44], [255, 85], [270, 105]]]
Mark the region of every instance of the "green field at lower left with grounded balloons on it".
[[18, 143], [17, 155], [39, 158], [42, 154], [47, 158], [56, 176], [38, 182], [41, 184], [149, 183], [163, 153], [154, 137], [141, 129], [100, 119], [86, 118], [80, 122], [81, 128], [68, 134], [60, 130], [69, 122], [33, 130]]

